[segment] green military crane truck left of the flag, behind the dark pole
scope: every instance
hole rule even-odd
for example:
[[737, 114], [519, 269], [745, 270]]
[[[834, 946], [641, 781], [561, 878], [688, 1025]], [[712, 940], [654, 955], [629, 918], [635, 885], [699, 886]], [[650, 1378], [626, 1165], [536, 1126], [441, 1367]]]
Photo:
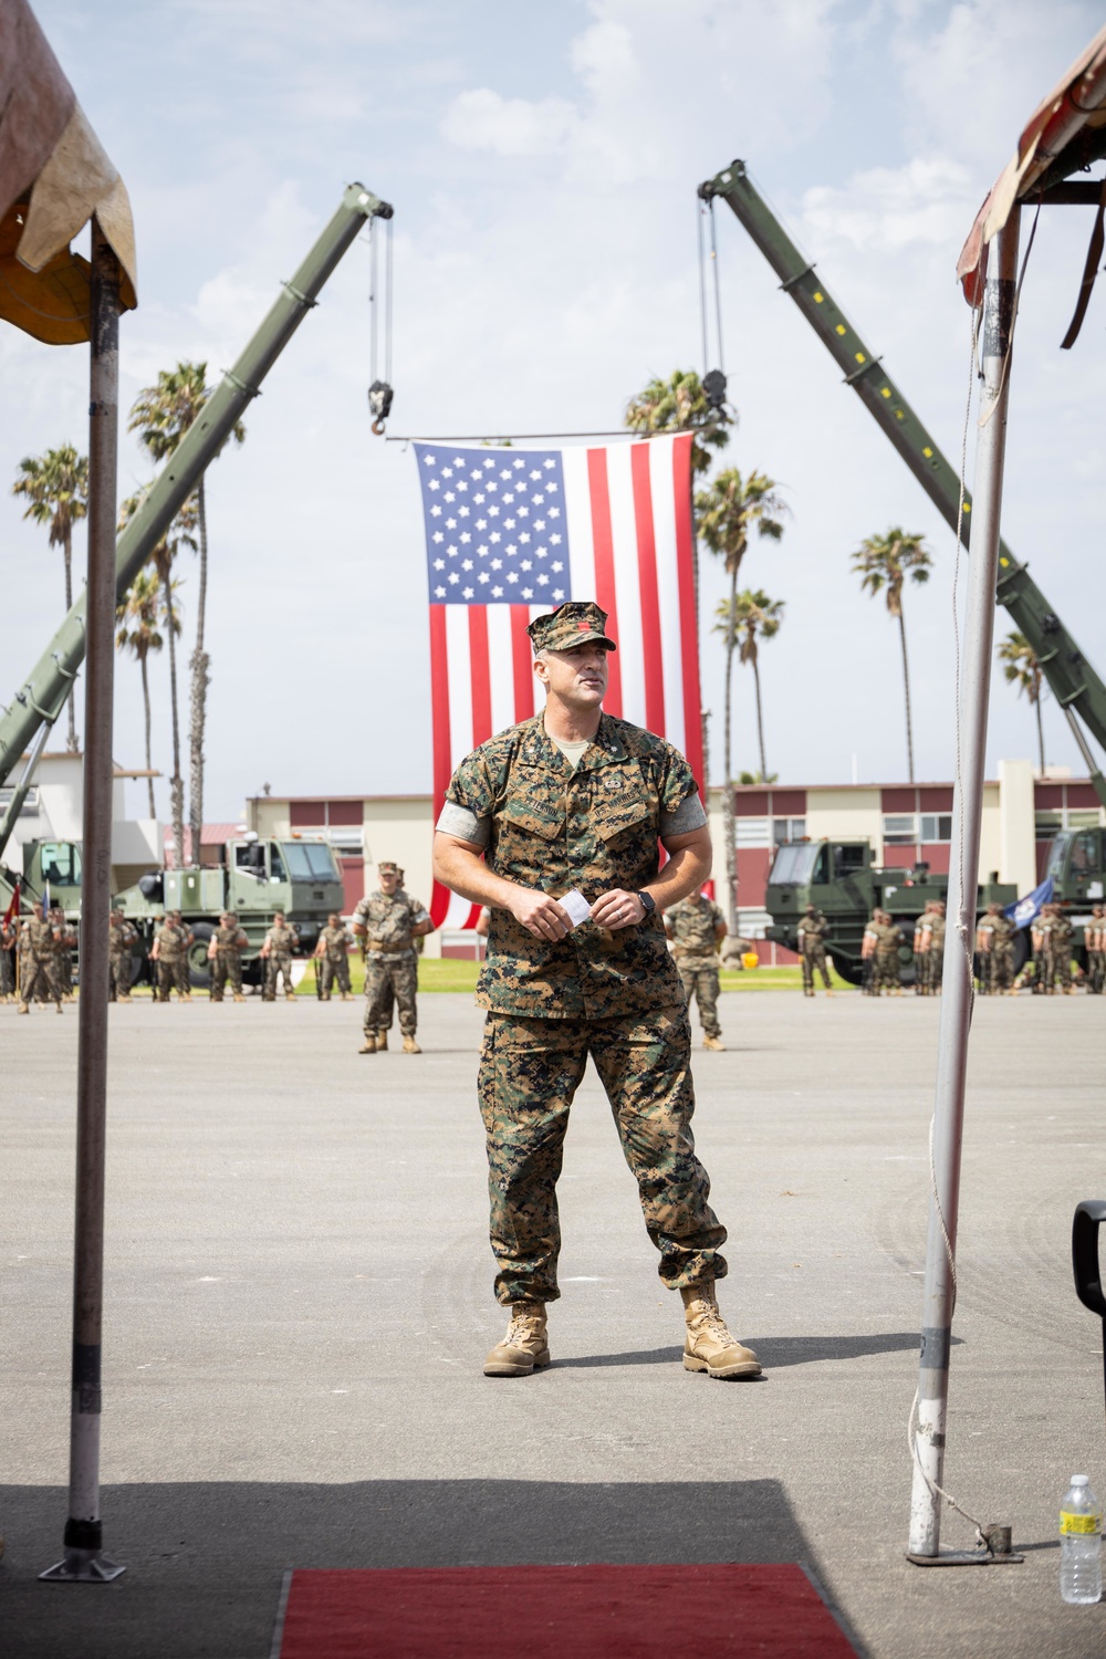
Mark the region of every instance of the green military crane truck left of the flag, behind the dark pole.
[[[10, 873], [7, 881], [0, 874], [0, 911], [7, 906], [3, 893], [10, 881]], [[43, 898], [46, 884], [51, 902], [60, 904], [70, 921], [80, 921], [81, 849], [76, 841], [25, 844], [20, 884], [20, 909], [25, 914]], [[249, 949], [242, 952], [242, 977], [247, 984], [260, 984], [259, 952], [274, 912], [284, 911], [307, 956], [318, 942], [330, 912], [342, 914], [345, 909], [345, 891], [335, 856], [322, 836], [293, 834], [287, 841], [260, 841], [249, 831], [221, 848], [217, 864], [149, 871], [134, 886], [118, 893], [113, 904], [138, 929], [133, 947], [136, 982], [153, 979], [149, 952], [159, 917], [166, 911], [181, 911], [194, 934], [189, 980], [204, 989], [211, 984], [207, 944], [222, 911], [234, 911], [249, 939]]]

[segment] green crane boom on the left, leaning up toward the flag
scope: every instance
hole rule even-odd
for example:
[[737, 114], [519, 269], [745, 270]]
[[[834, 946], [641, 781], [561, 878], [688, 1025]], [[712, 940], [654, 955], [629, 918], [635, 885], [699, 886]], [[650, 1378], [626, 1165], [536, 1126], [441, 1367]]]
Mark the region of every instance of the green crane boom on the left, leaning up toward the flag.
[[[353, 244], [366, 219], [390, 219], [388, 202], [363, 184], [350, 184], [342, 204], [295, 275], [282, 285], [267, 317], [230, 368], [184, 438], [151, 484], [143, 504], [116, 542], [116, 599], [121, 602], [139, 569], [196, 489], [202, 473], [219, 455], [235, 421], [260, 392], [260, 383], [317, 304], [317, 294]], [[0, 710], [0, 783], [20, 755], [33, 743], [43, 723], [58, 718], [76, 670], [85, 659], [85, 606], [81, 592], [45, 652], [22, 682], [8, 708]], [[18, 808], [17, 808], [18, 811]], [[0, 823], [0, 851], [12, 831], [13, 815]]]

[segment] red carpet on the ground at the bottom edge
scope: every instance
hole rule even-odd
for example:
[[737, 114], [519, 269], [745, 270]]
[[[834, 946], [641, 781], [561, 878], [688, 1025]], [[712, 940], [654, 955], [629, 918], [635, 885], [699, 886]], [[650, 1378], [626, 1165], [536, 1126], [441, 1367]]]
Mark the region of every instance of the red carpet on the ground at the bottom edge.
[[856, 1659], [798, 1566], [295, 1571], [279, 1659]]

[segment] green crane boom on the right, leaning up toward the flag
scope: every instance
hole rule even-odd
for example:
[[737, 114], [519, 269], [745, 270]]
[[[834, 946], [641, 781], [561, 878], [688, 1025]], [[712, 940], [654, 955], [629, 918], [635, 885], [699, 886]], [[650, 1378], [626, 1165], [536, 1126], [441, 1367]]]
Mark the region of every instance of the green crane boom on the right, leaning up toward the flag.
[[[779, 277], [784, 294], [799, 307], [829, 355], [844, 372], [869, 415], [907, 463], [925, 494], [952, 531], [960, 508], [960, 476], [925, 430], [900, 388], [884, 368], [846, 314], [841, 310], [814, 265], [803, 257], [764, 197], [753, 186], [743, 161], [700, 184], [703, 201], [721, 197], [733, 209], [753, 242]], [[962, 538], [970, 544], [972, 496], [963, 498]], [[1048, 685], [1068, 715], [1083, 758], [1091, 771], [1098, 798], [1106, 805], [1106, 780], [1094, 765], [1074, 715], [1086, 723], [1094, 740], [1106, 748], [1106, 685], [1083, 655], [1045, 594], [1015, 559], [1005, 541], [998, 544], [997, 602], [1003, 606], [1038, 655]]]

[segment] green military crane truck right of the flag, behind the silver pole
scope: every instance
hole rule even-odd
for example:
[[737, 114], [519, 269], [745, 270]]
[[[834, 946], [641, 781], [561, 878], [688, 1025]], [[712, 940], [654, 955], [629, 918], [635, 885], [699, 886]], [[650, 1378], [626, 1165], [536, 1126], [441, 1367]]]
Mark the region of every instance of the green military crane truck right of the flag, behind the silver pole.
[[[1013, 904], [1016, 888], [1008, 881], [980, 883], [977, 916], [988, 904]], [[799, 921], [808, 904], [816, 904], [826, 916], [831, 932], [826, 951], [834, 967], [849, 984], [862, 979], [861, 941], [864, 926], [874, 909], [890, 912], [902, 929], [904, 944], [899, 949], [902, 984], [912, 985], [914, 924], [934, 899], [948, 902], [948, 876], [934, 874], [927, 864], [912, 869], [887, 868], [872, 863], [871, 843], [862, 841], [788, 841], [776, 853], [768, 878], [766, 907], [771, 926], [766, 937], [789, 951], [799, 949]], [[1028, 957], [1025, 929], [1015, 934], [1015, 971], [1021, 971]]]

